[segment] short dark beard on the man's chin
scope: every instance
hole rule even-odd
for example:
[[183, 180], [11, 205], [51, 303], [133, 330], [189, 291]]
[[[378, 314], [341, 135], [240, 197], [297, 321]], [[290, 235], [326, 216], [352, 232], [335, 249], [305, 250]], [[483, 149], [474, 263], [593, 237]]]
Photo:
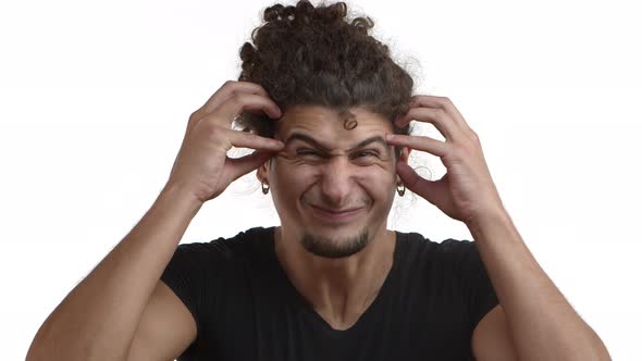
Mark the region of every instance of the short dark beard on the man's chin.
[[332, 238], [312, 235], [308, 232], [304, 233], [301, 245], [312, 254], [338, 259], [350, 257], [368, 246], [370, 237], [368, 237], [368, 229], [363, 228], [356, 236], [348, 237], [342, 241], [333, 240]]

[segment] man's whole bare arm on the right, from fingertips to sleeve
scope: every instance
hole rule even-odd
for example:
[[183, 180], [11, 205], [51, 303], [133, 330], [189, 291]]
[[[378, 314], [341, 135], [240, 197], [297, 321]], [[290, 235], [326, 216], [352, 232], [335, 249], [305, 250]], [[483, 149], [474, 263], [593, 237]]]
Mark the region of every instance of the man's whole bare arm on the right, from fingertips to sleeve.
[[[445, 97], [415, 96], [395, 125], [402, 127], [412, 120], [433, 124], [446, 141], [388, 135], [388, 144], [437, 155], [447, 173], [439, 180], [424, 179], [405, 157], [397, 162], [397, 174], [410, 190], [468, 226], [499, 299], [501, 307], [486, 314], [473, 332], [476, 356], [483, 354], [484, 360], [510, 359], [515, 353], [519, 360], [609, 360], [600, 337], [526, 247], [502, 204], [479, 136], [453, 102]], [[501, 350], [489, 353], [493, 345]]]

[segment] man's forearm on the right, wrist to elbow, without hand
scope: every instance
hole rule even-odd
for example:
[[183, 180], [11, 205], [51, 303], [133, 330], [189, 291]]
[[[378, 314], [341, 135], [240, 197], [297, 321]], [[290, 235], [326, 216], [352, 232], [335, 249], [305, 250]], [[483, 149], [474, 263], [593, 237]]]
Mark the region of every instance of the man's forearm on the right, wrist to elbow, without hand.
[[504, 210], [468, 224], [519, 360], [610, 360], [595, 332], [544, 273]]

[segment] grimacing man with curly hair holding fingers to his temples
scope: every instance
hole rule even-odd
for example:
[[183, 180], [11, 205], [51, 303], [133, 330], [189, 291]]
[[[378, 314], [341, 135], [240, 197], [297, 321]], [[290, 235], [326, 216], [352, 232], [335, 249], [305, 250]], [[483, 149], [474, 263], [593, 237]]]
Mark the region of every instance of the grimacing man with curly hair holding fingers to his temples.
[[[28, 360], [609, 359], [528, 251], [455, 105], [410, 97], [372, 24], [345, 15], [342, 3], [266, 10], [239, 82], [192, 114], [161, 195]], [[409, 135], [411, 121], [446, 141]], [[232, 147], [257, 151], [233, 159]], [[447, 174], [419, 177], [412, 149]], [[254, 170], [281, 225], [176, 248], [202, 204]], [[476, 241], [386, 229], [406, 187]]]

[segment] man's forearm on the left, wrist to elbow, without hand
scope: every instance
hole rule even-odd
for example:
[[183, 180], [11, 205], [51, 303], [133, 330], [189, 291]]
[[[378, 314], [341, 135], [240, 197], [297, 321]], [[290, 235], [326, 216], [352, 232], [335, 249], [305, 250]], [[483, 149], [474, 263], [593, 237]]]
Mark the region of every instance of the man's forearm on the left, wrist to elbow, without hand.
[[49, 315], [27, 359], [124, 359], [149, 297], [199, 208], [177, 189], [163, 189], [140, 222]]

